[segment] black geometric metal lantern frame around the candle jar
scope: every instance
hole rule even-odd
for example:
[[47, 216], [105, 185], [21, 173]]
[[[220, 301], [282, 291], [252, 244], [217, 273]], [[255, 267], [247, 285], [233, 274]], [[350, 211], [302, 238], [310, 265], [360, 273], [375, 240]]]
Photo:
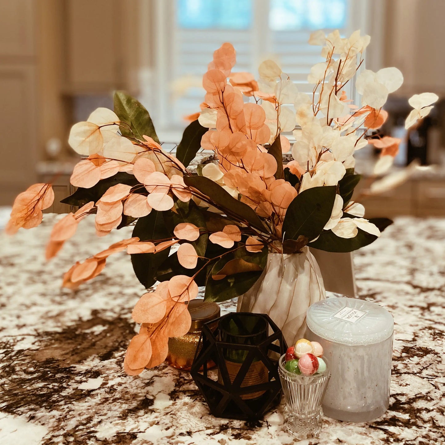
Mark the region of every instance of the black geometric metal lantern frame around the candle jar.
[[[272, 334], [257, 345], [227, 343], [219, 340], [219, 332], [223, 321], [230, 318], [235, 320], [247, 314], [263, 318], [267, 323], [266, 332], [272, 331]], [[226, 360], [223, 356], [224, 348], [247, 351], [247, 356], [233, 382], [231, 382]], [[190, 374], [204, 396], [210, 412], [215, 417], [254, 421], [262, 418], [267, 411], [279, 404], [281, 400], [282, 388], [278, 373], [278, 360], [286, 350], [286, 341], [281, 331], [268, 315], [233, 312], [203, 325]], [[267, 368], [268, 381], [241, 387], [255, 359], [256, 361], [261, 360]], [[222, 380], [223, 383], [209, 377], [210, 370], [207, 363], [211, 363], [211, 361], [218, 368], [218, 380]], [[241, 398], [241, 396], [261, 391], [264, 391], [263, 394], [254, 399]]]

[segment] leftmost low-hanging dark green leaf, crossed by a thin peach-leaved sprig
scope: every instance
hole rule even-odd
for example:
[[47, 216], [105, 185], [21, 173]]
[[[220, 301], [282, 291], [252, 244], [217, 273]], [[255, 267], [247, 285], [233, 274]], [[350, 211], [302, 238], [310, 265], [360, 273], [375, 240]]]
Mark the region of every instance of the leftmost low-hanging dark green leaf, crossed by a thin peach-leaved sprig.
[[[162, 212], [152, 210], [147, 216], [138, 219], [133, 236], [141, 241], [169, 238], [170, 233], [164, 223]], [[134, 273], [145, 288], [153, 286], [160, 265], [168, 258], [170, 247], [158, 253], [135, 253], [131, 255]]]

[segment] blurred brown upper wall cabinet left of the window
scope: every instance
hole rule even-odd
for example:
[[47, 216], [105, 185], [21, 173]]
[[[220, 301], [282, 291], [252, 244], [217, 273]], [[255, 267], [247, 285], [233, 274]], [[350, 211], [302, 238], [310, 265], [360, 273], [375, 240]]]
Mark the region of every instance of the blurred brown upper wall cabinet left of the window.
[[138, 90], [138, 1], [65, 0], [65, 94]]

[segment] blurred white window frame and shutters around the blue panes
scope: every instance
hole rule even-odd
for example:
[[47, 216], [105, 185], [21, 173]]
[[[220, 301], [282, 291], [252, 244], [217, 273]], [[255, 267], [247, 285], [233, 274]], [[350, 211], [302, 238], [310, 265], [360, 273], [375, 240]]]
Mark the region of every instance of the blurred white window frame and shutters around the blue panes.
[[[312, 95], [314, 86], [307, 82], [307, 74], [312, 65], [323, 61], [321, 47], [307, 43], [312, 29], [271, 29], [264, 12], [269, 11], [273, 0], [251, 0], [252, 18], [248, 29], [181, 28], [176, 17], [176, 1], [154, 0], [154, 35], [158, 36], [156, 73], [152, 85], [142, 86], [142, 98], [153, 95], [157, 98], [157, 109], [153, 114], [161, 136], [174, 134], [163, 139], [178, 137], [187, 125], [184, 116], [200, 111], [199, 104], [205, 94], [201, 87], [202, 75], [214, 50], [226, 41], [234, 45], [237, 52], [234, 72], [249, 71], [257, 77], [259, 63], [273, 55], [283, 72], [297, 84], [298, 90]], [[328, 6], [331, 0], [317, 1], [327, 2]], [[367, 0], [361, 4], [364, 6], [358, 8], [356, 2], [348, 0], [345, 27], [340, 33], [348, 35], [357, 28], [352, 24], [364, 23]], [[353, 78], [345, 87], [346, 94], [353, 100], [356, 99], [354, 84]]]

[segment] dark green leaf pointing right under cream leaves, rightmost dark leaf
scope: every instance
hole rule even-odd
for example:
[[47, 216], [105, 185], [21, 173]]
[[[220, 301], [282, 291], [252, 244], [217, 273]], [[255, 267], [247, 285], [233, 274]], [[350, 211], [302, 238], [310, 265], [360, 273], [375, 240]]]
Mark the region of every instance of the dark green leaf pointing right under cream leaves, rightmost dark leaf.
[[[353, 216], [351, 215], [351, 217]], [[375, 224], [380, 232], [383, 232], [384, 229], [392, 224], [392, 220], [388, 218], [371, 218], [369, 222]], [[377, 238], [375, 235], [371, 235], [371, 233], [365, 232], [362, 229], [358, 229], [357, 235], [353, 238], [340, 238], [332, 230], [326, 230], [320, 233], [320, 237], [316, 241], [309, 243], [309, 247], [325, 250], [326, 252], [352, 252], [371, 244]]]

